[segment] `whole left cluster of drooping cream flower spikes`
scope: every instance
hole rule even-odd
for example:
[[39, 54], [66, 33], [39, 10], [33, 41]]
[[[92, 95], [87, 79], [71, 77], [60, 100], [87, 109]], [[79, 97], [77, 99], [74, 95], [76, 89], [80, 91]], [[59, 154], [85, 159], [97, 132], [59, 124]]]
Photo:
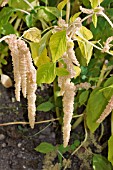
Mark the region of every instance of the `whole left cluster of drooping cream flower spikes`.
[[14, 69], [15, 80], [15, 96], [17, 101], [20, 101], [20, 90], [22, 88], [23, 96], [28, 99], [28, 117], [31, 128], [34, 128], [35, 123], [35, 91], [36, 84], [36, 70], [32, 63], [31, 53], [27, 44], [17, 39], [16, 35], [9, 35], [5, 39], [11, 50], [11, 56]]

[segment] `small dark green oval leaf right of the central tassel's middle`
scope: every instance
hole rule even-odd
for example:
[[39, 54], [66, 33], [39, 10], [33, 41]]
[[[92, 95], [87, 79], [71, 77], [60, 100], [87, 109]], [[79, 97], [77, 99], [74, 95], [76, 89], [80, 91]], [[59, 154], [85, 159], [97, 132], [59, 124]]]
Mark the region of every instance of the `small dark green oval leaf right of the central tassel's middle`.
[[80, 106], [85, 104], [85, 102], [87, 101], [88, 99], [88, 96], [89, 96], [89, 91], [86, 90], [86, 91], [83, 91], [80, 96], [79, 96], [79, 103], [80, 103]]

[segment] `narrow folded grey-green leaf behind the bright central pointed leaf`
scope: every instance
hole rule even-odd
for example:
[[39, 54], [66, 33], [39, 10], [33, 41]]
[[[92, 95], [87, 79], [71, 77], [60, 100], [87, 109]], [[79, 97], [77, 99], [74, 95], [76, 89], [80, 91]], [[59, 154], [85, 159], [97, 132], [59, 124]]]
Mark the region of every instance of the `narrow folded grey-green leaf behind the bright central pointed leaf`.
[[43, 50], [45, 49], [46, 45], [47, 45], [47, 42], [49, 40], [51, 36], [51, 30], [48, 31], [40, 40], [39, 42], [39, 48], [38, 48], [38, 56], [41, 55], [41, 53], [43, 52]]

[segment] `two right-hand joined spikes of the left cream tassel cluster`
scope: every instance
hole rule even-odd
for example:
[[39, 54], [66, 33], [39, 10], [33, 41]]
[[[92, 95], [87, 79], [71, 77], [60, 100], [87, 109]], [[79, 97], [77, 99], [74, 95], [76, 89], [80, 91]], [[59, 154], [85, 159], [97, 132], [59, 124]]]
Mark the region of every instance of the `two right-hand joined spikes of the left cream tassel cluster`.
[[[31, 53], [27, 44], [23, 40], [18, 39], [18, 49], [20, 52], [20, 69], [22, 77], [22, 92], [24, 97], [28, 99], [28, 118], [31, 128], [34, 128], [35, 112], [36, 112], [36, 69], [33, 66]], [[25, 63], [24, 63], [25, 62]]]

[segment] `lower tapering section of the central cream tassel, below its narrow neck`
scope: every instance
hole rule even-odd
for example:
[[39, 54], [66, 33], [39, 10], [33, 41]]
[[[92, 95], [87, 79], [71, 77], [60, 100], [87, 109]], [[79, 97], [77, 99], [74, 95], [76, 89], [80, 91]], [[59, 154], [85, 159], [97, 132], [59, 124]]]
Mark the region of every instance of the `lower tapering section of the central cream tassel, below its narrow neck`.
[[71, 131], [71, 120], [74, 110], [74, 96], [75, 96], [75, 87], [74, 83], [70, 82], [70, 79], [67, 79], [65, 82], [65, 92], [63, 95], [63, 141], [64, 147], [68, 145], [70, 139]]

